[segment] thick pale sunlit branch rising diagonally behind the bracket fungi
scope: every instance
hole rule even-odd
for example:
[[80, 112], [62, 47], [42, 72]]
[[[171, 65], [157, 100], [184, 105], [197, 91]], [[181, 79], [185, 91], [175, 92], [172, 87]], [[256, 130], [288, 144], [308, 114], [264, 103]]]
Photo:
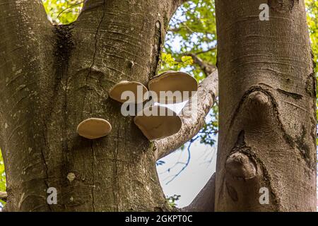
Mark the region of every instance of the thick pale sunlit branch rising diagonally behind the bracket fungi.
[[169, 155], [190, 141], [205, 124], [206, 114], [210, 111], [218, 95], [218, 71], [215, 70], [199, 84], [196, 95], [182, 109], [180, 117], [182, 128], [173, 136], [155, 141], [157, 159]]

